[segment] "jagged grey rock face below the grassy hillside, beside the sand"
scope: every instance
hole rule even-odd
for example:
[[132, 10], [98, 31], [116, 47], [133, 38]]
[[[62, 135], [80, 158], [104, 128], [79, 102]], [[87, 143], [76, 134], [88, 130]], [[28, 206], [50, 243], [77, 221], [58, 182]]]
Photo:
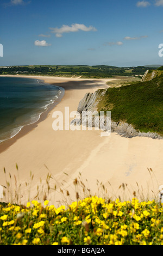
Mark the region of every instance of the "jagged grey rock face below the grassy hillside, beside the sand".
[[[80, 114], [78, 118], [73, 119], [71, 121], [72, 125], [86, 125], [88, 127], [99, 127], [99, 114], [97, 112], [97, 104], [101, 100], [101, 97], [105, 94], [105, 90], [97, 90], [95, 93], [86, 93], [84, 98], [80, 100], [79, 106], [78, 106], [78, 113]], [[87, 121], [85, 121], [82, 118], [82, 113], [87, 114]], [[95, 115], [92, 116], [92, 113], [95, 113]], [[107, 131], [106, 127], [108, 127], [106, 124], [108, 122], [109, 117], [107, 117], [99, 129], [103, 131]], [[163, 137], [159, 136], [157, 133], [153, 132], [140, 132], [136, 131], [134, 127], [128, 123], [125, 122], [114, 122], [111, 121], [111, 132], [116, 132], [118, 135], [121, 135], [122, 137], [126, 138], [133, 138], [136, 136], [139, 137], [150, 137], [153, 139], [163, 139]]]

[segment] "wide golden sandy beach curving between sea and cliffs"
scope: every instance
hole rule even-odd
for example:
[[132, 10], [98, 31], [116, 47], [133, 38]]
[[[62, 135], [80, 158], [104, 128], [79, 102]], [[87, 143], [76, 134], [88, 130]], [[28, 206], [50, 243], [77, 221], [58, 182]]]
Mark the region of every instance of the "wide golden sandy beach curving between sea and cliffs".
[[[134, 191], [138, 197], [141, 197], [142, 192], [145, 198], [148, 195], [151, 198], [156, 196], [158, 186], [163, 184], [162, 140], [145, 137], [129, 139], [116, 133], [111, 133], [109, 137], [101, 137], [101, 131], [95, 130], [54, 131], [52, 129], [54, 111], [64, 113], [65, 107], [69, 107], [70, 112], [77, 111], [79, 101], [85, 93], [95, 92], [98, 88], [107, 88], [106, 81], [111, 78], [83, 80], [30, 77], [60, 86], [65, 89], [65, 93], [58, 104], [53, 106], [38, 123], [25, 127], [9, 142], [0, 145], [0, 185], [6, 186], [3, 170], [5, 167], [12, 191], [15, 187], [14, 175], [16, 185], [21, 184], [21, 202], [24, 204], [28, 202], [29, 191], [30, 200], [35, 198], [38, 192], [37, 185], [39, 186], [37, 199], [42, 200], [46, 193], [49, 203], [55, 205], [60, 205], [65, 200], [76, 200], [77, 191], [79, 196], [85, 196], [89, 193], [87, 188], [92, 194], [103, 196], [105, 193], [112, 199], [118, 196], [124, 200], [128, 197], [132, 198]], [[147, 168], [152, 168], [153, 171], [148, 171]], [[34, 175], [32, 181], [30, 181], [30, 172]], [[48, 180], [51, 188], [49, 193], [46, 181], [48, 173], [51, 174]], [[78, 187], [73, 184], [76, 178], [80, 182]], [[124, 186], [121, 186], [122, 184]], [[68, 193], [70, 196], [66, 196]]]

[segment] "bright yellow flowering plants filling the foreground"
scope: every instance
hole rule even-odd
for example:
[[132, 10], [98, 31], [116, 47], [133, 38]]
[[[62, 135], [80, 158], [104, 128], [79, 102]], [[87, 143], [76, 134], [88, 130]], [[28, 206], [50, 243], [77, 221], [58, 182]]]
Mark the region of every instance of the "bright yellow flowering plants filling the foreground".
[[0, 203], [1, 245], [163, 245], [163, 208], [153, 201], [85, 198], [55, 208]]

